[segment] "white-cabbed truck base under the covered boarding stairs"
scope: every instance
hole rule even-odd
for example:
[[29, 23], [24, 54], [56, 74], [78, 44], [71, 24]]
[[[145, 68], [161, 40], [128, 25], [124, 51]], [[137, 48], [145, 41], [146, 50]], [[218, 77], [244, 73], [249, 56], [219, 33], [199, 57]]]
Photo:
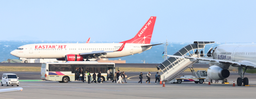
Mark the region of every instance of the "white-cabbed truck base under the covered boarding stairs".
[[[190, 68], [190, 70], [191, 70], [191, 68]], [[194, 76], [184, 75], [184, 76], [181, 76], [180, 78], [174, 78], [170, 82], [171, 83], [181, 83], [181, 82], [203, 83], [209, 79], [207, 76], [207, 72], [205, 70], [198, 70], [196, 73], [196, 72], [194, 72], [194, 69], [192, 68], [191, 72], [193, 73]]]

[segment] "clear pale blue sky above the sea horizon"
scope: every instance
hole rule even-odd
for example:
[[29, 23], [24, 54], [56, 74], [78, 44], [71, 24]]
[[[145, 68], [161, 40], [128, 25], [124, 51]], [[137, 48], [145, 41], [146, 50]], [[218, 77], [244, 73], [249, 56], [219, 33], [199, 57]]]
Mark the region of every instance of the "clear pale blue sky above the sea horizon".
[[0, 40], [125, 41], [156, 16], [152, 42], [255, 43], [255, 0], [1, 0]]

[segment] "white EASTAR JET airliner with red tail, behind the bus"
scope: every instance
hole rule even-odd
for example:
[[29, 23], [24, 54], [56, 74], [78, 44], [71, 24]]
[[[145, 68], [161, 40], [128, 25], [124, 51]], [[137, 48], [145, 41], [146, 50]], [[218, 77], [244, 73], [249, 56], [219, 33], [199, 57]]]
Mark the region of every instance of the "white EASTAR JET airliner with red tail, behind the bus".
[[[149, 50], [156, 17], [150, 17], [134, 38], [120, 43], [42, 43], [18, 47], [10, 52], [22, 60], [27, 58], [57, 58], [57, 60], [83, 61], [92, 58], [116, 58]], [[26, 63], [27, 61], [25, 61]]]

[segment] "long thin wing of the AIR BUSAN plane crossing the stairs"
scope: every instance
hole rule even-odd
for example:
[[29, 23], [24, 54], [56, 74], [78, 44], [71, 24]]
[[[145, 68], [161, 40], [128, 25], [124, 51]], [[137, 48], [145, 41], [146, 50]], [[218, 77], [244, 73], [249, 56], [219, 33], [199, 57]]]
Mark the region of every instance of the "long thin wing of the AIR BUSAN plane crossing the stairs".
[[249, 67], [249, 68], [256, 68], [256, 65], [248, 63], [248, 62], [233, 62], [233, 61], [226, 61], [226, 60], [215, 60], [215, 59], [207, 59], [207, 58], [194, 58], [194, 57], [176, 56], [176, 55], [164, 55], [164, 56], [176, 57], [176, 58], [187, 58], [187, 59], [190, 59], [190, 61], [204, 60], [204, 61], [209, 61], [212, 64], [218, 64], [218, 63], [230, 64], [233, 67], [244, 66], [244, 67]]

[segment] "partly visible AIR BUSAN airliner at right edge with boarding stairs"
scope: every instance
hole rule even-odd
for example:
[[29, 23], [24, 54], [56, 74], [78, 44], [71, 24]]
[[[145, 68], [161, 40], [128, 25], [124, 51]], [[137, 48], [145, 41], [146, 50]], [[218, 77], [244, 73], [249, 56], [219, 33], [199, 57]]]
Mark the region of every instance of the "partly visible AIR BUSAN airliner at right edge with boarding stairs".
[[[194, 58], [186, 56], [166, 55], [176, 58], [188, 58], [190, 61], [204, 60], [210, 61], [210, 67], [207, 70], [209, 79], [224, 80], [230, 75], [229, 68], [238, 68], [237, 85], [248, 85], [248, 78], [244, 74], [256, 73], [256, 44], [224, 44], [215, 47], [212, 50], [213, 59]], [[230, 67], [231, 66], [231, 67]]]

